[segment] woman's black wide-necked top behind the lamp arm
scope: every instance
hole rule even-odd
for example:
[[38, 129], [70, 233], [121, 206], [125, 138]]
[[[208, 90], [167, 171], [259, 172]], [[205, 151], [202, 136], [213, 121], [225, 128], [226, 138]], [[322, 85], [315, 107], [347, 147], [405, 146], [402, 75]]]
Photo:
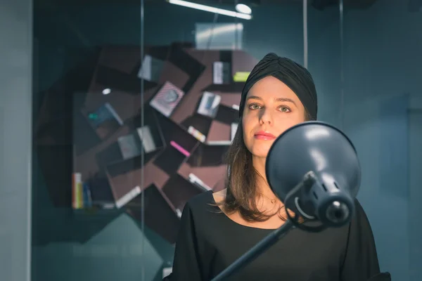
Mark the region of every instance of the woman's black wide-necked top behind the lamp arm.
[[[210, 203], [212, 191], [186, 203], [173, 273], [165, 280], [211, 280], [273, 231], [242, 226]], [[366, 281], [379, 272], [371, 226], [356, 201], [347, 226], [321, 233], [293, 229], [230, 280]]]

